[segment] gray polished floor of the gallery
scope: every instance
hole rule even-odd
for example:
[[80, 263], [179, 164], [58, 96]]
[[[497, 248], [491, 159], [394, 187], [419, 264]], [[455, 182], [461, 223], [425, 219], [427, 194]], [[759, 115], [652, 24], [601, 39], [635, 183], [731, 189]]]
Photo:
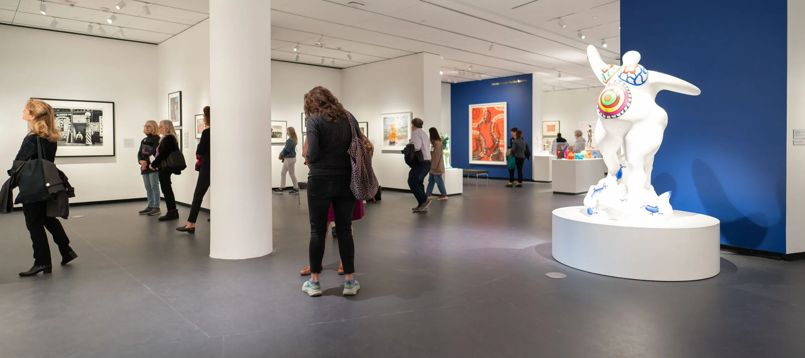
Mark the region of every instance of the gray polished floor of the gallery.
[[551, 258], [551, 210], [581, 196], [489, 184], [427, 214], [392, 191], [367, 205], [349, 298], [332, 242], [324, 296], [302, 292], [307, 205], [287, 194], [274, 253], [241, 261], [208, 257], [205, 214], [188, 235], [144, 203], [73, 208], [80, 257], [32, 278], [17, 276], [33, 261], [22, 213], [0, 216], [0, 357], [805, 356], [805, 261], [723, 253], [698, 282], [588, 274]]

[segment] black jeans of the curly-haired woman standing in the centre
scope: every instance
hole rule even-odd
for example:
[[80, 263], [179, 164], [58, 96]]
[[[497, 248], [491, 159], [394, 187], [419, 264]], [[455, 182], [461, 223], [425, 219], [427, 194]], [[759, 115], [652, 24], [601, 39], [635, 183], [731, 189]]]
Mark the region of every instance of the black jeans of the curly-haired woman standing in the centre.
[[324, 239], [327, 235], [327, 212], [332, 204], [336, 216], [338, 253], [344, 274], [355, 273], [355, 243], [352, 237], [352, 214], [355, 195], [349, 189], [349, 175], [309, 176], [308, 212], [310, 212], [310, 272], [321, 274]]

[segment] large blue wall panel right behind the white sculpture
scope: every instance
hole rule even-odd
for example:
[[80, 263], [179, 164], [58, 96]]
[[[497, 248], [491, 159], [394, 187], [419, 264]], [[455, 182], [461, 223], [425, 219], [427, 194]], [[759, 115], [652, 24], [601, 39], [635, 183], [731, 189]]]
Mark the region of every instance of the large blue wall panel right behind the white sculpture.
[[721, 220], [721, 243], [786, 252], [786, 0], [622, 0], [621, 53], [701, 88], [663, 91], [654, 160], [675, 209]]

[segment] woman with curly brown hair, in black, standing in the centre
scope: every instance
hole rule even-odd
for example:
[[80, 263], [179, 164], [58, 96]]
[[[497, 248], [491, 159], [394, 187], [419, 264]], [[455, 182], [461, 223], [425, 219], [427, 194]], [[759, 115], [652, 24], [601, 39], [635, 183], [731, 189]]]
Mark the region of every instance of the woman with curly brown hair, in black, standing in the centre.
[[320, 296], [322, 293], [319, 274], [327, 237], [327, 212], [332, 204], [338, 232], [338, 252], [345, 274], [343, 294], [357, 294], [361, 286], [353, 278], [355, 244], [351, 229], [355, 195], [349, 187], [352, 162], [347, 150], [353, 135], [360, 136], [361, 131], [352, 113], [344, 109], [327, 88], [321, 86], [304, 95], [304, 113], [308, 117], [308, 150], [305, 158], [310, 164], [308, 211], [311, 233], [308, 258], [311, 279], [304, 282], [302, 290], [311, 296]]

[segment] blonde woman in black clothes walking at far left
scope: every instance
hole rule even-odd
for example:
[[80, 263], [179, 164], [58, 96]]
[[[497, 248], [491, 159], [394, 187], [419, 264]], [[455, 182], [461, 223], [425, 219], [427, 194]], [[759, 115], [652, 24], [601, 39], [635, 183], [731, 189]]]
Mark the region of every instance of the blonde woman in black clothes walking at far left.
[[[23, 145], [19, 147], [19, 153], [14, 160], [39, 159], [37, 142], [43, 146], [45, 160], [54, 162], [56, 160], [56, 142], [61, 138], [59, 127], [56, 126], [53, 108], [44, 101], [28, 100], [23, 109], [23, 119], [28, 121], [31, 132], [23, 139]], [[10, 171], [9, 171], [10, 172]], [[10, 174], [10, 173], [9, 173]], [[47, 216], [47, 202], [39, 201], [36, 203], [23, 204], [23, 215], [25, 215], [25, 225], [28, 232], [31, 232], [31, 241], [34, 244], [34, 265], [31, 270], [19, 273], [20, 276], [32, 276], [44, 272], [52, 272], [50, 245], [47, 244], [47, 234], [45, 229], [51, 232], [53, 242], [59, 246], [61, 253], [61, 264], [67, 265], [78, 255], [70, 248], [70, 240], [59, 219]]]

